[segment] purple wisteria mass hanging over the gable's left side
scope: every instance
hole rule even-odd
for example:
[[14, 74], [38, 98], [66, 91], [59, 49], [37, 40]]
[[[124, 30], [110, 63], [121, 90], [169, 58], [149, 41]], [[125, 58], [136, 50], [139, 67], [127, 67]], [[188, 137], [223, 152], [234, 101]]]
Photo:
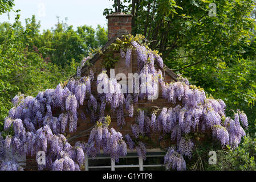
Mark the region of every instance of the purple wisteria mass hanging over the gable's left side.
[[[84, 61], [86, 59], [82, 64]], [[1, 159], [5, 160], [0, 163], [1, 169], [19, 168], [17, 161], [8, 154], [36, 156], [39, 151], [44, 151], [47, 156], [46, 164], [39, 165], [39, 169], [79, 169], [84, 160], [84, 152], [79, 146], [71, 147], [63, 134], [76, 131], [77, 110], [86, 98], [89, 98], [88, 103], [92, 103], [95, 109], [91, 79], [92, 74], [71, 78], [66, 85], [59, 84], [56, 89], [39, 92], [35, 98], [23, 94], [14, 97], [14, 107], [4, 123], [4, 130], [13, 129], [14, 135], [8, 135], [4, 140], [1, 138]], [[59, 116], [53, 112], [57, 109], [61, 111]]]

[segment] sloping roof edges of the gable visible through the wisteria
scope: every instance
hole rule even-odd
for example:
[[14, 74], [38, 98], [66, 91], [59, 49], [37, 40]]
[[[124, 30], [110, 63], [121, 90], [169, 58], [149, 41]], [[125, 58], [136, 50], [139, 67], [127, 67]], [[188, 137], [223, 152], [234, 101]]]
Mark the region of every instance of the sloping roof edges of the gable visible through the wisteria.
[[[121, 29], [119, 31], [117, 31], [116, 36], [114, 36], [113, 38], [109, 39], [108, 42], [105, 44], [105, 46], [103, 46], [103, 48], [101, 48], [101, 51], [104, 52], [112, 43], [114, 43], [116, 41], [117, 38], [121, 38], [122, 35], [128, 35], [129, 32], [125, 29]], [[89, 63], [94, 64], [99, 58], [100, 58], [100, 53], [96, 53], [94, 55], [94, 57], [92, 57], [92, 59], [89, 60]], [[159, 67], [159, 63], [156, 61], [155, 62]], [[174, 73], [170, 68], [166, 67], [166, 65], [164, 64], [165, 67], [165, 72], [175, 81], [177, 81], [178, 75], [176, 75], [176, 73]], [[86, 65], [84, 65], [84, 67], [81, 69], [81, 75], [84, 75], [84, 73], [86, 73], [87, 71], [87, 67]]]

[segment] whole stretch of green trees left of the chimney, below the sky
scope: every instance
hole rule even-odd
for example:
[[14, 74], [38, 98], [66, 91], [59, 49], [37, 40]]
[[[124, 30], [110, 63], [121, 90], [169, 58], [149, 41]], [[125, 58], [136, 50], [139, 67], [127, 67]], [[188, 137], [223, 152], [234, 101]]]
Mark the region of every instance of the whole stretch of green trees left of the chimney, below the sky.
[[12, 107], [11, 99], [18, 92], [36, 96], [39, 91], [55, 88], [60, 81], [74, 75], [90, 49], [107, 42], [107, 31], [98, 26], [78, 27], [56, 23], [51, 30], [40, 33], [35, 16], [19, 22], [0, 23], [0, 131]]

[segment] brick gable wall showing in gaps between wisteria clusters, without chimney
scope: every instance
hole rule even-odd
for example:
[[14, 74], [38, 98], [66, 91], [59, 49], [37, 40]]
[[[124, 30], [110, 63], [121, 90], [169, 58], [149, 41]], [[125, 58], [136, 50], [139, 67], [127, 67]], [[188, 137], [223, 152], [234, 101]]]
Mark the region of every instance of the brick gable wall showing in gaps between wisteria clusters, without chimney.
[[[114, 53], [115, 56], [119, 56], [119, 52], [115, 52]], [[101, 63], [103, 61], [103, 57], [100, 57], [96, 63], [94, 64], [94, 66], [92, 67], [92, 70], [94, 71], [95, 73], [95, 78], [94, 78], [94, 82], [92, 84], [92, 92], [94, 93], [94, 95], [96, 96], [97, 95], [97, 90], [96, 90], [96, 78], [97, 78], [97, 75], [99, 73], [101, 73]], [[124, 64], [124, 59], [121, 59], [119, 60], [118, 63], [116, 63], [116, 65], [123, 65]], [[132, 51], [132, 60], [131, 60], [131, 67], [132, 68], [127, 68], [129, 70], [131, 70], [132, 72], [130, 73], [137, 73], [137, 54], [136, 54], [136, 51]], [[160, 69], [162, 70], [160, 67], [158, 67], [157, 65], [155, 65], [156, 69]], [[123, 71], [123, 68], [119, 68], [119, 67], [115, 67], [115, 75], [117, 73], [121, 73]], [[88, 70], [89, 72], [89, 70]], [[87, 73], [85, 73], [84, 75], [82, 76], [86, 76]], [[109, 70], [107, 71], [107, 74], [109, 76]], [[162, 75], [164, 76], [164, 80], [166, 82], [170, 82], [172, 81], [173, 79], [167, 74], [167, 73], [164, 73], [164, 71], [162, 71]], [[100, 101], [99, 101], [100, 103]], [[84, 111], [85, 110], [85, 107], [87, 105], [87, 102], [84, 103], [84, 106], [80, 106], [79, 110], [78, 110], [78, 113], [80, 111]], [[149, 113], [152, 111], [152, 106], [157, 106], [157, 107], [160, 107], [160, 109], [162, 109], [162, 107], [173, 107], [173, 105], [166, 101], [164, 98], [162, 98], [162, 90], [161, 90], [161, 85], [159, 84], [159, 97], [157, 98], [157, 100], [139, 100], [138, 104], [134, 104], [134, 117], [130, 118], [128, 115], [128, 111], [124, 108], [124, 118], [125, 118], [125, 125], [124, 126], [117, 126], [117, 119], [116, 119], [116, 113], [112, 112], [110, 109], [108, 110], [108, 108], [110, 108], [109, 105], [107, 105], [106, 107], [106, 110], [105, 110], [105, 115], [110, 115], [111, 116], [111, 125], [109, 126], [109, 128], [113, 127], [115, 128], [116, 131], [119, 131], [120, 133], [123, 134], [123, 136], [125, 134], [129, 134], [131, 135], [131, 137], [133, 136], [132, 134], [132, 130], [131, 130], [131, 125], [133, 123], [136, 123], [136, 110], [139, 109], [139, 108], [143, 108], [145, 110], [148, 110]], [[86, 121], [83, 121], [82, 118], [78, 118], [78, 129], [76, 131], [76, 133], [72, 134], [72, 135], [77, 135], [79, 134], [81, 131], [84, 131], [84, 130], [87, 130], [89, 129], [90, 127], [94, 126], [94, 123], [91, 122], [91, 116], [90, 115], [86, 115], [87, 118], [86, 118]], [[88, 133], [90, 134], [90, 133]], [[158, 134], [155, 134], [153, 135], [152, 139], [153, 138], [156, 138]], [[74, 143], [78, 140], [80, 141], [84, 141], [84, 142], [87, 142], [88, 140], [88, 137], [89, 136], [85, 136], [85, 137], [80, 137], [76, 140], [74, 140]], [[169, 142], [168, 141], [164, 141], [161, 143], [162, 147], [166, 146], [166, 145], [169, 145]], [[148, 146], [150, 148], [150, 146]]]

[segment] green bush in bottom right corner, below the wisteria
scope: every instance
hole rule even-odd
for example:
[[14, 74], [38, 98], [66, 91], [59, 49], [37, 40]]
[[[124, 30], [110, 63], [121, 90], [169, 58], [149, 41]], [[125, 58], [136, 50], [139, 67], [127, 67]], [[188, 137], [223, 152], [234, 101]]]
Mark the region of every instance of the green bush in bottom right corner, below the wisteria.
[[[254, 136], [255, 137], [255, 136]], [[209, 164], [209, 151], [216, 152], [216, 164]], [[216, 141], [201, 142], [193, 152], [192, 160], [188, 160], [190, 170], [210, 171], [255, 171], [256, 170], [256, 138], [244, 137], [243, 142], [235, 150], [221, 148]]]

